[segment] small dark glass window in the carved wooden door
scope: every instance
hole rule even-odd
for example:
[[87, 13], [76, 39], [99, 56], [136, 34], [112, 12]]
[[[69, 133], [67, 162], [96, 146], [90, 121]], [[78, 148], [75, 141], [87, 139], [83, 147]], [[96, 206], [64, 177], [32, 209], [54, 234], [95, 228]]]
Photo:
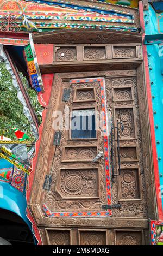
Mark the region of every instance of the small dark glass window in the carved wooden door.
[[71, 138], [96, 138], [95, 109], [83, 109], [72, 111]]

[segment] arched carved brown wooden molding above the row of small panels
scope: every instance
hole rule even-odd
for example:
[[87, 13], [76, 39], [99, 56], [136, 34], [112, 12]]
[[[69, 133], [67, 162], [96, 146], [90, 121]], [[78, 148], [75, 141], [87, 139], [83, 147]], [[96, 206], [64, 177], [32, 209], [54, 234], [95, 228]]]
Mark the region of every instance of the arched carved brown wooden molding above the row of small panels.
[[142, 35], [131, 32], [68, 29], [51, 33], [33, 34], [35, 44], [114, 44], [142, 43]]

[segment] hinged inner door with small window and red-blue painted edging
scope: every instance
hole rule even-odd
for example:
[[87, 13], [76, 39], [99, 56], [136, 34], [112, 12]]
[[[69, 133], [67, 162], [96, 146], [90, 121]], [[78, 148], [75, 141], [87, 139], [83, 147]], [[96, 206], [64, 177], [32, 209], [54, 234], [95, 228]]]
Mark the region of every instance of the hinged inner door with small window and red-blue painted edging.
[[56, 216], [109, 216], [102, 209], [111, 205], [105, 79], [56, 74], [54, 88], [44, 203]]

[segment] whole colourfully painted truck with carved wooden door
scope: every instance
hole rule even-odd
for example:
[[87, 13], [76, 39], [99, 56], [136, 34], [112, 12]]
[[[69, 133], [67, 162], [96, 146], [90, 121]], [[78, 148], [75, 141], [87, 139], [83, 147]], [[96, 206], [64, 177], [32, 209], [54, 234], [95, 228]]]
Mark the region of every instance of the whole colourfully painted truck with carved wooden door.
[[162, 32], [148, 2], [0, 0], [0, 56], [35, 138], [0, 144], [0, 237], [11, 244], [156, 243], [162, 66], [161, 42], [149, 41]]

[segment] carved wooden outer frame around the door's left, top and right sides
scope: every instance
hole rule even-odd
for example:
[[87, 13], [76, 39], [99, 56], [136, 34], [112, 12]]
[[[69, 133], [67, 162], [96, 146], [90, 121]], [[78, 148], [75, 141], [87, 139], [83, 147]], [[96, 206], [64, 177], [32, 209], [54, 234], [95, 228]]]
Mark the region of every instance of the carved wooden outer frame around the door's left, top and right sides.
[[[124, 65], [124, 63], [123, 63]], [[61, 73], [61, 74], [55, 74], [55, 81], [54, 84], [57, 84], [56, 81], [58, 81], [58, 85], [60, 84], [61, 80], [63, 79], [64, 81], [69, 82], [70, 79], [73, 78], [88, 78], [90, 76], [102, 76], [102, 77], [116, 77], [118, 75], [125, 76], [132, 74], [135, 75], [135, 70], [109, 70], [106, 72], [84, 72], [84, 73]], [[123, 74], [123, 75], [122, 75]], [[145, 83], [142, 79], [143, 77], [143, 63], [137, 68], [137, 90], [138, 90], [138, 100], [139, 100], [139, 107], [141, 109], [140, 111], [140, 123], [141, 123], [141, 133], [142, 133], [142, 144], [145, 145], [143, 147], [143, 158], [145, 161], [145, 166], [144, 166], [144, 172], [145, 172], [145, 178], [146, 178], [146, 192], [147, 192], [147, 206], [148, 206], [148, 217], [149, 218], [155, 218], [156, 217], [156, 202], [153, 202], [153, 199], [155, 198], [155, 189], [154, 189], [154, 174], [153, 174], [153, 162], [152, 162], [152, 148], [151, 148], [151, 134], [149, 132], [149, 118], [146, 115], [148, 113], [148, 108], [147, 108], [147, 97], [146, 97], [146, 88], [145, 88]], [[51, 93], [51, 100], [55, 95], [58, 93], [58, 88], [52, 88], [52, 93]], [[51, 102], [50, 100], [50, 102]], [[52, 112], [48, 108], [48, 113], [46, 116], [46, 120], [44, 124], [49, 123], [50, 117]], [[49, 127], [50, 128], [50, 127]], [[43, 176], [47, 174], [47, 172], [43, 172], [42, 170], [42, 163], [39, 162], [39, 159], [45, 158], [47, 154], [47, 145], [45, 144], [45, 141], [47, 139], [46, 137], [47, 131], [46, 131], [46, 126], [44, 125], [43, 127], [43, 133], [42, 133], [42, 138], [41, 138], [41, 145], [40, 145], [40, 151], [39, 151], [39, 156], [37, 157], [37, 168], [35, 171], [35, 178], [34, 178], [34, 187], [32, 189], [31, 193], [31, 198], [30, 198], [30, 203], [29, 207], [30, 210], [33, 212], [34, 217], [36, 218], [36, 221], [38, 224], [44, 224], [44, 225], [51, 225], [52, 223], [48, 221], [48, 218], [43, 217], [42, 209], [40, 208], [39, 202], [40, 199], [38, 197], [35, 197], [35, 195], [39, 195], [40, 191], [42, 190], [43, 186]], [[48, 147], [50, 145], [48, 144]], [[35, 195], [34, 195], [35, 194]], [[112, 217], [107, 218], [107, 223], [109, 225], [109, 219]], [[51, 219], [51, 218], [50, 218]], [[116, 218], [114, 218], [116, 219]], [[119, 219], [122, 219], [119, 218]], [[132, 218], [129, 218], [130, 222], [132, 222]], [[54, 220], [54, 218], [53, 218]], [[96, 219], [97, 221], [97, 219]], [[136, 221], [136, 219], [135, 219]], [[47, 223], [47, 224], [46, 224]], [[54, 223], [54, 222], [53, 222]], [[56, 223], [56, 222], [55, 222]], [[60, 221], [58, 222], [58, 224]], [[57, 225], [58, 225], [57, 224]], [[70, 223], [70, 225], [73, 226]], [[122, 227], [124, 227], [124, 222], [122, 222]]]

